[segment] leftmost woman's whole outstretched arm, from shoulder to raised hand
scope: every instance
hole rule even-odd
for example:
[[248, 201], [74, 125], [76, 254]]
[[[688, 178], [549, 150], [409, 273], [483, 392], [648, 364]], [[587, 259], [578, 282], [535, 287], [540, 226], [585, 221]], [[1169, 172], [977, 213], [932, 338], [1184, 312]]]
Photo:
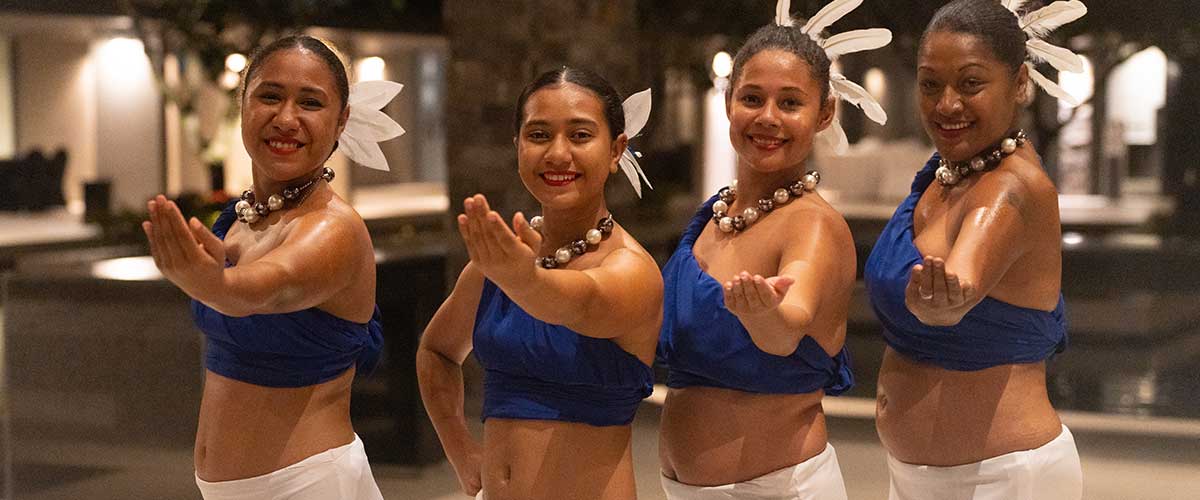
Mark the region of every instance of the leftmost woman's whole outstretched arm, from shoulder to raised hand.
[[278, 247], [260, 259], [224, 267], [224, 247], [208, 228], [185, 222], [179, 207], [158, 195], [143, 229], [163, 275], [191, 297], [232, 317], [284, 313], [325, 303], [356, 278], [353, 258], [366, 228], [337, 213], [296, 221]]

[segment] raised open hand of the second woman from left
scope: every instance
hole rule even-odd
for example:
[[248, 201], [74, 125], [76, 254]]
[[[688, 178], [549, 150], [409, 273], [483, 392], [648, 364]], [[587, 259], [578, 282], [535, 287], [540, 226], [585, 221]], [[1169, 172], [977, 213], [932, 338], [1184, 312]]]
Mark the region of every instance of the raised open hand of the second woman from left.
[[[487, 205], [482, 194], [463, 200], [458, 215], [458, 234], [467, 243], [467, 253], [488, 279], [500, 289], [518, 285], [536, 272], [536, 249], [541, 247], [538, 234], [524, 215], [512, 216], [512, 228]], [[518, 236], [520, 235], [520, 236]]]

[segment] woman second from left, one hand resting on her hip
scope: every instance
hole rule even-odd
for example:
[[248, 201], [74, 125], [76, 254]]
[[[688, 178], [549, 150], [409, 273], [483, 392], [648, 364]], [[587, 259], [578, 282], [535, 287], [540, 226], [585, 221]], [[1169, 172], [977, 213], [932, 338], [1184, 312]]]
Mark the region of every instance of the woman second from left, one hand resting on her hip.
[[[624, 126], [604, 79], [547, 72], [521, 94], [514, 139], [542, 216], [516, 213], [509, 229], [482, 195], [463, 201], [470, 261], [421, 337], [416, 366], [467, 494], [636, 498], [630, 422], [652, 388], [662, 282], [605, 203]], [[485, 369], [481, 444], [462, 408], [472, 350]]]

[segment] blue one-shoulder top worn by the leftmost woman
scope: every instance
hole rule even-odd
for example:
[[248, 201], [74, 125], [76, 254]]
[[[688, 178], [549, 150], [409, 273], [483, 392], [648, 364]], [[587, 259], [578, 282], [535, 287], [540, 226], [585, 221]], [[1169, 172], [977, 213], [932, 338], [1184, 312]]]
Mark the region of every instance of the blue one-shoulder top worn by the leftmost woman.
[[[222, 240], [236, 219], [233, 207], [230, 203], [212, 224], [212, 233]], [[374, 369], [383, 348], [378, 306], [366, 324], [316, 307], [234, 318], [198, 301], [192, 301], [192, 315], [208, 339], [205, 368], [268, 387], [316, 385], [337, 378], [350, 367], [367, 374]]]

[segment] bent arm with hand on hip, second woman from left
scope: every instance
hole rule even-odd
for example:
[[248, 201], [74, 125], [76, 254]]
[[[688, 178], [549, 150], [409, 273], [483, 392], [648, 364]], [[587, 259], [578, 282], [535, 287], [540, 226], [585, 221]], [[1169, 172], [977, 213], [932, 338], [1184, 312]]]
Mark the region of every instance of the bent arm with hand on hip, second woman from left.
[[479, 493], [482, 484], [482, 445], [467, 429], [462, 362], [472, 349], [475, 309], [482, 289], [484, 276], [472, 264], [467, 264], [454, 291], [426, 326], [416, 350], [421, 400], [463, 493], [469, 495]]

